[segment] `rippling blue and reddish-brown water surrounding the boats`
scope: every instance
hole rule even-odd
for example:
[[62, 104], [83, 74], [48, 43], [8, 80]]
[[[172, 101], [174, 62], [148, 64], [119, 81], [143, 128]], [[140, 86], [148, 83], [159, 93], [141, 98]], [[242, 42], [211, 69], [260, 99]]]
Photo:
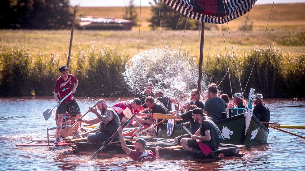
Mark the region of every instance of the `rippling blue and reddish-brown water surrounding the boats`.
[[[123, 99], [106, 99], [113, 105]], [[134, 162], [129, 158], [103, 158], [87, 162], [89, 156], [64, 155], [67, 147], [15, 147], [33, 138], [46, 136], [46, 128], [55, 126], [54, 116], [48, 121], [43, 111], [55, 105], [50, 98], [0, 98], [0, 170], [304, 170], [305, 140], [270, 129], [268, 144], [241, 149], [243, 158], [207, 161], [184, 160]], [[82, 112], [95, 104], [94, 98], [78, 99]], [[304, 125], [305, 101], [267, 99], [271, 121], [282, 125]], [[11, 118], [13, 117], [13, 118]], [[93, 118], [94, 114], [88, 116]], [[286, 129], [305, 136], [305, 130]]]

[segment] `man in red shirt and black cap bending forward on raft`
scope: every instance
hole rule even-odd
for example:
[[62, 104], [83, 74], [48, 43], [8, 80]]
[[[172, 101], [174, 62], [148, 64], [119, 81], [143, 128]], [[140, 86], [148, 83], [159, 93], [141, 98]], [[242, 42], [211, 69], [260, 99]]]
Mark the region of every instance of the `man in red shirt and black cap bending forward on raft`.
[[[121, 101], [115, 105], [112, 106], [112, 108], [115, 110], [115, 112], [118, 114], [121, 122], [125, 122], [127, 121], [130, 116], [126, 116], [123, 111], [126, 109], [126, 108], [129, 108], [131, 113], [130, 115], [133, 115], [134, 113], [139, 113], [139, 110], [140, 107], [142, 105], [142, 102], [140, 99], [138, 98], [135, 98], [134, 100], [125, 100], [125, 101]], [[146, 116], [145, 116], [146, 118]], [[144, 120], [142, 119], [141, 117], [135, 117], [134, 119], [136, 119], [139, 123], [146, 123], [146, 124], [152, 124], [152, 121], [150, 120]], [[129, 123], [133, 123], [134, 125], [137, 126], [136, 122], [134, 123], [133, 120], [131, 120]]]

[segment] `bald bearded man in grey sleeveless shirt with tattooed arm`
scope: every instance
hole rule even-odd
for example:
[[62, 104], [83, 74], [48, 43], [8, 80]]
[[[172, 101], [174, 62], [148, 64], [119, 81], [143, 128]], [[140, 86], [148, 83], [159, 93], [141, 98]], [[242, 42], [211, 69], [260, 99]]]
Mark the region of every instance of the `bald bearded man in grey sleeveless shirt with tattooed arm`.
[[[97, 109], [100, 110], [101, 114], [97, 112], [96, 107]], [[115, 112], [114, 109], [108, 107], [105, 100], [100, 99], [96, 107], [95, 108], [89, 107], [89, 111], [94, 113], [97, 116], [97, 118], [91, 120], [84, 120], [84, 119], [79, 120], [80, 122], [84, 122], [90, 125], [101, 122], [99, 126], [99, 130], [96, 132], [96, 134], [89, 135], [87, 137], [88, 143], [100, 143], [106, 141], [121, 126], [121, 122], [118, 114]], [[119, 140], [119, 135], [117, 135], [113, 139], [113, 141], [118, 141], [118, 140]]]

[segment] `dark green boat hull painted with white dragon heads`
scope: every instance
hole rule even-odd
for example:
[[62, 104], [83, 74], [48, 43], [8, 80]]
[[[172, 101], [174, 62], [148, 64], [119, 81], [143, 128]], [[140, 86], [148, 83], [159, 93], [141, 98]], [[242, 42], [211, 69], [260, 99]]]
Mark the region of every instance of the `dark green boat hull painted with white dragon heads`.
[[[226, 144], [252, 145], [267, 143], [269, 129], [266, 128], [254, 115], [251, 118], [249, 128], [246, 130], [245, 114], [239, 114], [230, 118], [221, 119], [214, 122], [224, 135]], [[189, 128], [189, 124], [175, 124], [173, 134], [167, 135], [167, 124], [160, 124], [158, 135], [164, 138], [173, 139], [177, 136], [187, 134], [183, 126]]]

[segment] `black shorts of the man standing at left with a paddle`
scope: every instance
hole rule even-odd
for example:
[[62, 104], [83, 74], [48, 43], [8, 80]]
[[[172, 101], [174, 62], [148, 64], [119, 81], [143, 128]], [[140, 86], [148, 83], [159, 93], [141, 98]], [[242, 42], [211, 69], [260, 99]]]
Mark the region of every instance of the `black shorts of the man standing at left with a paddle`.
[[64, 114], [68, 112], [71, 117], [74, 117], [78, 115], [80, 112], [79, 106], [75, 99], [68, 103], [61, 103], [61, 105], [58, 105], [57, 107], [57, 113], [58, 114]]

